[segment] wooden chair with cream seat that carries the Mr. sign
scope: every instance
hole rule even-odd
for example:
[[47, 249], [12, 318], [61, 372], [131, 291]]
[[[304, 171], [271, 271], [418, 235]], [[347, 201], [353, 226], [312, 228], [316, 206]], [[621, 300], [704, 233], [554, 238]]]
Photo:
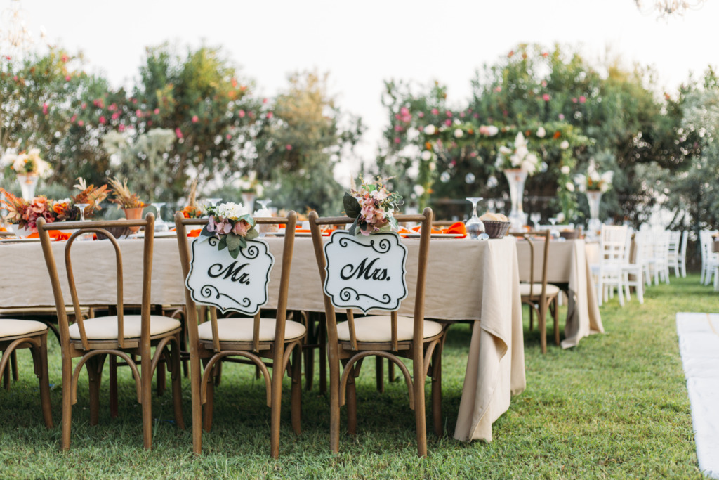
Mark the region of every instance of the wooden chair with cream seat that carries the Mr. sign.
[[[187, 238], [188, 225], [205, 225], [208, 219], [186, 219], [181, 212], [175, 214], [180, 261], [183, 276], [190, 272], [190, 244]], [[292, 427], [296, 434], [301, 432], [301, 394], [302, 394], [302, 340], [306, 328], [299, 322], [286, 320], [287, 297], [290, 284], [290, 266], [292, 265], [295, 243], [296, 213], [288, 212], [286, 217], [256, 218], [257, 225], [284, 224], [285, 240], [282, 252], [282, 271], [280, 293], [274, 319], [261, 318], [258, 312], [252, 317], [217, 318], [216, 309], [209, 308], [209, 322], [198, 325], [198, 305], [185, 289], [187, 304], [187, 330], [190, 344], [190, 381], [192, 386], [192, 444], [197, 454], [202, 451], [202, 429], [209, 431], [212, 425], [214, 404], [214, 377], [219, 371], [221, 361], [228, 357], [239, 356], [249, 360], [262, 372], [267, 389], [267, 407], [270, 407], [270, 456], [280, 455], [280, 407], [282, 405], [282, 381], [285, 371], [292, 378], [291, 415]], [[290, 353], [292, 363], [290, 366]], [[273, 375], [262, 358], [272, 360]], [[204, 371], [201, 370], [204, 363]], [[205, 404], [203, 423], [202, 405]]]

